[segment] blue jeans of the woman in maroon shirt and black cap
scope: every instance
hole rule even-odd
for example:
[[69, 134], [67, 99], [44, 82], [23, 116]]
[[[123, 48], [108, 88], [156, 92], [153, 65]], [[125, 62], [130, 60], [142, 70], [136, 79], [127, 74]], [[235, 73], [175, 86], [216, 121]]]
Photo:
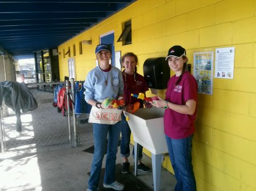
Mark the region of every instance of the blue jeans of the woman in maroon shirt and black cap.
[[196, 179], [191, 164], [192, 137], [193, 135], [173, 139], [165, 135], [171, 165], [177, 180], [175, 191], [196, 191]]

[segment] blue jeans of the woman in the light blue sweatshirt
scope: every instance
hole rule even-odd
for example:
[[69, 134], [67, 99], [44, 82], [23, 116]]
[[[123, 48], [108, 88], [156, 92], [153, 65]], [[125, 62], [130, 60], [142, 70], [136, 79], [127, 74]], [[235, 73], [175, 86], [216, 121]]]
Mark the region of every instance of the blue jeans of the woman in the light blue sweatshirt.
[[106, 151], [106, 168], [103, 182], [109, 185], [115, 181], [115, 161], [120, 132], [121, 122], [116, 124], [93, 123], [94, 154], [88, 181], [89, 189], [96, 190], [99, 186], [102, 160]]

